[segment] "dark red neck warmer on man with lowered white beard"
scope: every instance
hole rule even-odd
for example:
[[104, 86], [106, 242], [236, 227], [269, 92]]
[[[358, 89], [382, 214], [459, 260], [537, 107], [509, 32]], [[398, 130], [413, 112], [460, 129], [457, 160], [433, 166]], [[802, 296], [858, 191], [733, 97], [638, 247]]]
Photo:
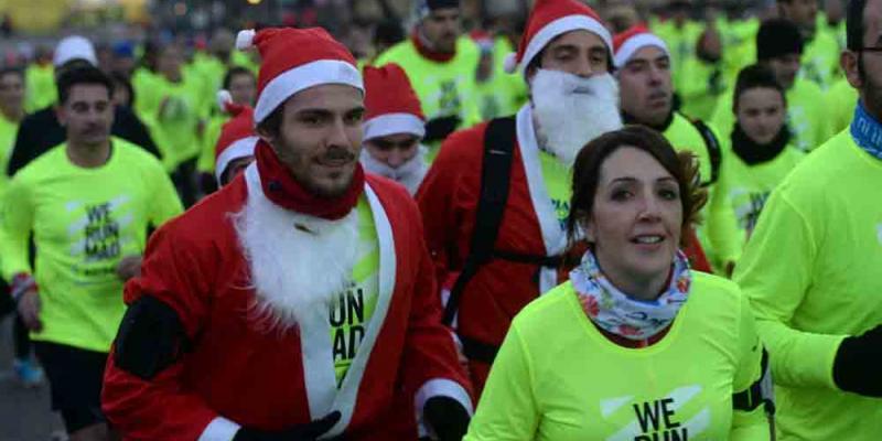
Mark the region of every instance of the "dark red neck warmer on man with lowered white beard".
[[362, 164], [356, 164], [355, 174], [346, 193], [340, 197], [329, 198], [312, 194], [297, 182], [266, 141], [258, 141], [255, 152], [263, 194], [273, 204], [286, 209], [337, 220], [355, 207], [364, 191], [365, 172]]

